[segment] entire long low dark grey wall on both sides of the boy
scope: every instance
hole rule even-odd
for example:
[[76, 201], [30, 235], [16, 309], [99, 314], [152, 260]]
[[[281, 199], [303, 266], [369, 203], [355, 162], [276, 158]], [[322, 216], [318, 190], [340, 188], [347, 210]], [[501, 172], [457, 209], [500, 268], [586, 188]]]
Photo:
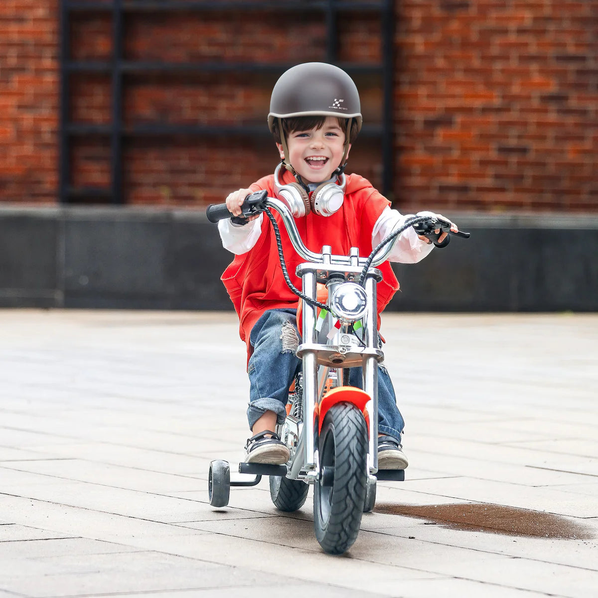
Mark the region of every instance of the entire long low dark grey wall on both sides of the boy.
[[[471, 238], [394, 264], [388, 309], [598, 310], [598, 216], [453, 218]], [[199, 212], [0, 208], [0, 306], [232, 309], [231, 260]]]

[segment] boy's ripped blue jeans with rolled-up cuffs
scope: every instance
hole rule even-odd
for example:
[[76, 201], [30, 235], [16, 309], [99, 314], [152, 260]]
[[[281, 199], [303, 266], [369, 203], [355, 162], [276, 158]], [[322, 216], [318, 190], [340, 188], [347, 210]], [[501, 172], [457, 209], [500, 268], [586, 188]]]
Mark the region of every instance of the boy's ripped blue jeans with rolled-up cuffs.
[[[287, 412], [289, 386], [301, 368], [295, 356], [299, 344], [296, 310], [271, 309], [251, 329], [253, 354], [249, 359], [249, 427], [266, 411], [277, 414], [283, 423]], [[350, 368], [349, 384], [362, 388], [362, 368]], [[405, 422], [396, 405], [393, 383], [386, 368], [378, 365], [378, 430], [400, 441]]]

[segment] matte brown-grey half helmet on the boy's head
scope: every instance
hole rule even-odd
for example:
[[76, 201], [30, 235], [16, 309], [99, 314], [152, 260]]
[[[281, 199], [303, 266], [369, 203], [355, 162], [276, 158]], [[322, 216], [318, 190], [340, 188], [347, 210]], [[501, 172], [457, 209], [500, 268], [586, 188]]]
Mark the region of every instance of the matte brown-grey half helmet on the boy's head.
[[271, 132], [275, 118], [312, 115], [354, 118], [357, 131], [362, 128], [357, 87], [338, 66], [305, 62], [285, 71], [276, 82], [268, 114]]

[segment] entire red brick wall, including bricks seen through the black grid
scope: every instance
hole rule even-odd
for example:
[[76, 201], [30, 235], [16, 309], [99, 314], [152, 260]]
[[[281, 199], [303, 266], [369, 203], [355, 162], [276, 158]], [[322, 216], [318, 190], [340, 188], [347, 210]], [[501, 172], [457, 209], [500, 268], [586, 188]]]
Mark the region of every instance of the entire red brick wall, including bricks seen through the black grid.
[[[57, 194], [58, 0], [0, 2], [0, 200]], [[596, 210], [598, 1], [396, 2], [396, 185], [403, 209]], [[320, 15], [137, 13], [125, 21], [129, 60], [322, 60]], [[377, 17], [339, 24], [339, 60], [380, 60]], [[71, 53], [108, 60], [110, 16], [75, 16]], [[259, 123], [274, 75], [128, 74], [127, 126]], [[356, 77], [366, 122], [379, 120], [378, 80]], [[108, 123], [107, 74], [71, 75], [71, 118]], [[359, 139], [350, 170], [379, 185], [379, 141]], [[267, 135], [128, 137], [131, 204], [205, 205], [272, 172]], [[108, 187], [107, 136], [74, 138], [74, 187]], [[97, 201], [97, 200], [95, 200]]]

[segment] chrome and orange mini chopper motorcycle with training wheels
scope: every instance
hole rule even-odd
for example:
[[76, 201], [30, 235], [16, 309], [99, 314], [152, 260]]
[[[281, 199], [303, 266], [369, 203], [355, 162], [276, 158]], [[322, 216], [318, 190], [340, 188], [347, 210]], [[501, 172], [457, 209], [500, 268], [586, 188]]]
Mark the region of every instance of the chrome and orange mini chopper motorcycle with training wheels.
[[[450, 236], [439, 244], [434, 231], [451, 233], [450, 222], [420, 212], [408, 217], [369, 257], [360, 257], [357, 248], [349, 255], [332, 255], [327, 245], [316, 254], [303, 245], [289, 203], [257, 191], [245, 199], [242, 213], [247, 217], [264, 212], [271, 220], [285, 280], [300, 298], [302, 340], [296, 355], [302, 367], [289, 390], [286, 421], [276, 429], [290, 459], [286, 465], [239, 463], [239, 473], [254, 476], [249, 481], [231, 480], [229, 463], [213, 460], [208, 496], [213, 507], [226, 507], [230, 486], [256, 486], [268, 475], [272, 502], [292, 512], [302, 507], [312, 484], [315, 536], [326, 553], [342, 554], [357, 539], [362, 513], [374, 508], [377, 480], [405, 479], [403, 470], [378, 469], [378, 363], [384, 354], [378, 346], [376, 286], [382, 276], [376, 266], [411, 226], [436, 246], [447, 246]], [[302, 291], [289, 278], [272, 209], [281, 215], [293, 248], [305, 260], [296, 272]], [[232, 214], [226, 204], [219, 204], [208, 206], [207, 216], [217, 222]], [[363, 390], [348, 386], [351, 367], [362, 368]]]

